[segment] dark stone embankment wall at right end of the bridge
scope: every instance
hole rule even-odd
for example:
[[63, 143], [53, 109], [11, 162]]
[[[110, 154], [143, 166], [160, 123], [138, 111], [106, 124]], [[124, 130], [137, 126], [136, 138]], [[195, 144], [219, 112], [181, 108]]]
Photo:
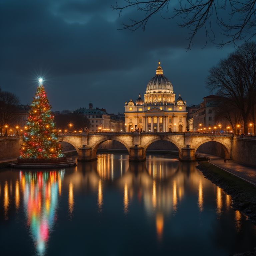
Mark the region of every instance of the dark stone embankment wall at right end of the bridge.
[[238, 163], [256, 167], [256, 139], [234, 138], [232, 159]]

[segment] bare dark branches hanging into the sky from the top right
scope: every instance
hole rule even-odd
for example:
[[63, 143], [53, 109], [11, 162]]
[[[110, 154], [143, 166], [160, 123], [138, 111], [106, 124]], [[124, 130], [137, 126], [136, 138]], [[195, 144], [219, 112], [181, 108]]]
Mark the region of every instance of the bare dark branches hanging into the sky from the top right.
[[[179, 0], [178, 8], [169, 11], [170, 0], [120, 0], [123, 4], [112, 6], [119, 15], [126, 9], [136, 8], [141, 14], [139, 19], [130, 18], [129, 23], [122, 23], [123, 29], [145, 30], [148, 20], [157, 13], [164, 19], [176, 16], [181, 18], [178, 24], [181, 28], [190, 30], [188, 49], [193, 45], [193, 39], [201, 29], [205, 31], [206, 42], [215, 42], [216, 29], [226, 36], [226, 40], [216, 42], [220, 47], [236, 41], [251, 39], [256, 34], [256, 0]], [[217, 25], [217, 26], [216, 26]]]

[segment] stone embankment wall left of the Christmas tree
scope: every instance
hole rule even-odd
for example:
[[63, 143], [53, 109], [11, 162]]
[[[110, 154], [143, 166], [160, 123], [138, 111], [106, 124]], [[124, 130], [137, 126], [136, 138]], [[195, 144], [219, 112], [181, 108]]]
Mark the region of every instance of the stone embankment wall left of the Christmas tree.
[[20, 155], [22, 136], [1, 137], [0, 158], [14, 158]]

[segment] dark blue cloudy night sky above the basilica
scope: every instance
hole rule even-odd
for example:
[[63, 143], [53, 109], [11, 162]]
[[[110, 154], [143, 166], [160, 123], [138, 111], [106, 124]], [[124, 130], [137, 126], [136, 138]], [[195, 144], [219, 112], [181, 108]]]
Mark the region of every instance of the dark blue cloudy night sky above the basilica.
[[[187, 105], [209, 95], [208, 70], [234, 50], [218, 49], [201, 31], [188, 46], [180, 20], [150, 19], [146, 31], [118, 30], [138, 15], [130, 9], [119, 18], [110, 7], [116, 0], [51, 0], [0, 2], [0, 87], [31, 104], [37, 78], [53, 110], [79, 107], [123, 112], [125, 101], [143, 95], [160, 59], [164, 75]], [[119, 3], [123, 1], [119, 0]], [[178, 0], [173, 1], [178, 4]]]

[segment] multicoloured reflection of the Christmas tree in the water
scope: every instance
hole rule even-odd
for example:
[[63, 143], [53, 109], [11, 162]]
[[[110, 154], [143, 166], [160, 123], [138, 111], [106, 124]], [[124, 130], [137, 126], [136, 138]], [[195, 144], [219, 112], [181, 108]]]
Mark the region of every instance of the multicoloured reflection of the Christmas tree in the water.
[[[34, 240], [37, 255], [45, 253], [49, 232], [54, 224], [58, 190], [61, 188], [58, 181], [63, 177], [64, 170], [20, 172], [27, 225]], [[18, 190], [18, 185], [16, 188]]]

